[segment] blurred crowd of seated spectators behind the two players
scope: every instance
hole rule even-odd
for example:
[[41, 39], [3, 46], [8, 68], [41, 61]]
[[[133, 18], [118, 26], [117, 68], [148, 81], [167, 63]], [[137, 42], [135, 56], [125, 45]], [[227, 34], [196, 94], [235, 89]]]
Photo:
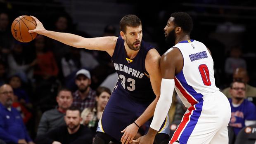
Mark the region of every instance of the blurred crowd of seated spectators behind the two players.
[[[163, 37], [156, 38], [163, 35], [163, 21], [171, 13], [166, 9], [157, 9], [159, 13], [152, 14], [159, 20], [153, 24], [148, 18], [151, 12], [148, 15], [137, 12], [142, 19], [145, 40], [156, 45], [160, 54], [170, 47], [164, 44]], [[194, 11], [207, 10], [197, 8]], [[223, 11], [219, 9], [219, 12]], [[107, 52], [70, 47], [43, 35], [28, 43], [18, 42], [10, 31], [12, 20], [18, 16], [8, 2], [1, 3], [0, 144], [91, 144], [118, 79], [111, 57]], [[192, 17], [194, 21], [200, 19]], [[56, 15], [51, 22], [48, 24], [50, 30], [91, 37], [78, 31], [66, 12]], [[197, 22], [194, 25], [191, 38], [203, 41], [211, 50], [216, 85], [230, 100], [229, 136], [232, 144], [242, 129], [249, 125], [256, 127], [256, 69], [253, 62], [256, 52], [251, 50], [254, 45], [248, 44], [254, 41], [243, 38], [246, 34], [246, 38], [250, 37], [250, 27], [229, 19], [214, 28], [197, 25]], [[211, 30], [205, 30], [207, 28]], [[119, 36], [116, 35], [118, 32], [116, 27], [106, 24], [101, 36]], [[173, 94], [169, 111], [172, 132], [186, 110]], [[135, 138], [144, 132], [142, 126]]]

